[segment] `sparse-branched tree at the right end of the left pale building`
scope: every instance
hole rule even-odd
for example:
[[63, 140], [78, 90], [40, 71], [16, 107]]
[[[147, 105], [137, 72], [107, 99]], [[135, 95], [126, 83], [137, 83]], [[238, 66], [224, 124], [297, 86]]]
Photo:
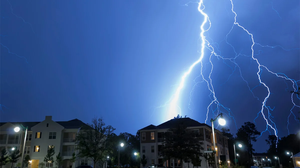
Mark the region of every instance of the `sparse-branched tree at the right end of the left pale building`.
[[87, 124], [90, 128], [83, 130], [76, 137], [76, 150], [79, 158], [90, 158], [94, 162], [94, 167], [98, 161], [106, 160], [112, 148], [111, 136], [115, 130], [112, 126], [105, 126], [102, 118], [95, 117]]

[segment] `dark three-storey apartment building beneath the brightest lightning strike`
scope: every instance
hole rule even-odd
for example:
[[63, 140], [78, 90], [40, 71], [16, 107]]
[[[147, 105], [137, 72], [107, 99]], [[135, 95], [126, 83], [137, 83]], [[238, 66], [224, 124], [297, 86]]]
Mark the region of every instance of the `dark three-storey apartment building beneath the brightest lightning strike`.
[[[158, 126], [155, 125], [149, 125], [145, 128], [140, 129], [141, 134], [141, 158], [143, 155], [146, 156], [147, 159], [147, 165], [148, 167], [151, 164], [164, 164], [165, 167], [181, 167], [180, 161], [178, 159], [169, 159], [168, 161], [163, 162], [163, 157], [161, 156], [161, 149], [163, 147], [164, 142], [164, 133], [167, 132], [168, 129], [173, 128], [177, 121], [180, 120], [180, 122], [183, 122], [187, 129], [190, 129], [197, 133], [199, 136], [202, 136], [202, 142], [203, 142], [203, 148], [204, 151], [210, 151], [213, 148], [213, 138], [212, 138], [212, 130], [211, 126], [199, 123], [196, 120], [193, 120], [191, 118], [178, 118], [178, 119], [172, 119], [165, 123], [162, 123]], [[215, 143], [216, 143], [216, 151], [217, 151], [217, 160], [219, 163], [229, 161], [229, 153], [228, 153], [228, 138], [226, 136], [223, 136], [223, 134], [217, 130], [214, 129], [215, 134]], [[206, 167], [206, 162], [203, 157], [201, 166], [199, 167]], [[141, 167], [142, 164], [141, 164]], [[183, 163], [183, 167], [188, 167], [187, 163]], [[192, 164], [190, 164], [190, 167], [193, 167]]]

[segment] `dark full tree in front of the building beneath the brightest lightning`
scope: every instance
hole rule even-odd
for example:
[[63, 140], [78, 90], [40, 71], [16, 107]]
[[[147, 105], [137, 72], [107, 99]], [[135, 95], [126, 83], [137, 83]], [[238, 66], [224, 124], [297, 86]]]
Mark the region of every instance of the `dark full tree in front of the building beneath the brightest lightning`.
[[165, 160], [179, 159], [191, 161], [195, 157], [203, 156], [203, 137], [199, 133], [187, 130], [187, 127], [180, 118], [173, 119], [175, 124], [165, 132], [161, 154]]

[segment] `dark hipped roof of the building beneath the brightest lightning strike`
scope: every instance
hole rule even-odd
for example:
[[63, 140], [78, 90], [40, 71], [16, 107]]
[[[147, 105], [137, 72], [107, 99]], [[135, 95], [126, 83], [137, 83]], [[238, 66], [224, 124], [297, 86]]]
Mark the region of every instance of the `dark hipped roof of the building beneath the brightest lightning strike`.
[[149, 126], [146, 126], [145, 128], [140, 129], [140, 131], [141, 130], [150, 130], [150, 129], [170, 129], [170, 128], [175, 127], [178, 122], [183, 122], [187, 127], [207, 126], [208, 128], [211, 129], [211, 126], [209, 126], [205, 123], [199, 123], [196, 120], [193, 120], [189, 117], [185, 117], [185, 118], [174, 118], [174, 119], [164, 122], [158, 126], [151, 124]]

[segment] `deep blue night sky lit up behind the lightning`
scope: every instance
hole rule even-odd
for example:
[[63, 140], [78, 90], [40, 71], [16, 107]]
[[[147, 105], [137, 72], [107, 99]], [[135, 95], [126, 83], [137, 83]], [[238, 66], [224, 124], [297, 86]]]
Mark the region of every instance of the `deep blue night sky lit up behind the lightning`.
[[[167, 101], [201, 51], [204, 16], [198, 3], [187, 3], [1, 0], [1, 122], [42, 121], [45, 115], [55, 121], [90, 122], [98, 116], [117, 134], [135, 134], [167, 121]], [[268, 89], [259, 83], [258, 64], [251, 59], [251, 36], [237, 25], [232, 28], [230, 0], [203, 3], [211, 21], [204, 36], [220, 55], [210, 58], [211, 51], [205, 48], [203, 77], [209, 79], [211, 73], [215, 97], [234, 115], [235, 120], [225, 115], [233, 134], [257, 116], [256, 126], [263, 132], [266, 121], [259, 111]], [[260, 44], [253, 46], [254, 58], [269, 71], [295, 81], [300, 80], [299, 3], [233, 0], [236, 21]], [[204, 29], [208, 28], [206, 23]], [[262, 47], [267, 45], [271, 47]], [[270, 116], [267, 108], [263, 111], [268, 122], [276, 124], [279, 137], [298, 132], [293, 114], [287, 127], [294, 106], [293, 83], [261, 68], [260, 79], [271, 93], [266, 102]], [[197, 77], [200, 74], [201, 63], [186, 77], [178, 106], [182, 116], [204, 123], [207, 111], [209, 121], [218, 109], [216, 104], [208, 108], [213, 96]], [[296, 95], [293, 101], [299, 106]], [[297, 106], [292, 109], [296, 118]], [[222, 106], [219, 112], [229, 114]], [[265, 139], [274, 135], [273, 129], [268, 130], [254, 143], [255, 152], [267, 149]]]

